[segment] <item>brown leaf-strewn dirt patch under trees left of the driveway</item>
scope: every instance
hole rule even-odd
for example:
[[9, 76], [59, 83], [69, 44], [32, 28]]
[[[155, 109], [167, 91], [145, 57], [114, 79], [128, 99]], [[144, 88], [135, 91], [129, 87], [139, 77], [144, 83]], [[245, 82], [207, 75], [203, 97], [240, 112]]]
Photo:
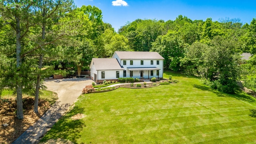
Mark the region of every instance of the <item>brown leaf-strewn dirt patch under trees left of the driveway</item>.
[[18, 138], [24, 131], [39, 120], [39, 118], [51, 107], [51, 103], [46, 100], [39, 100], [38, 114], [34, 113], [34, 98], [23, 99], [24, 119], [16, 118], [15, 99], [4, 99], [0, 104], [0, 142], [10, 144]]

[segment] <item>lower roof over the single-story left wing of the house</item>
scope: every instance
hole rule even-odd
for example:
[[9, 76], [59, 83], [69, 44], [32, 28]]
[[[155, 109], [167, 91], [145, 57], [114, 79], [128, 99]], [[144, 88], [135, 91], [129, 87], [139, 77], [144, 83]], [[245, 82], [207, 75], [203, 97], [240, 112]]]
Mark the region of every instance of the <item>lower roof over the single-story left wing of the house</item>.
[[116, 58], [92, 58], [96, 70], [124, 70]]

